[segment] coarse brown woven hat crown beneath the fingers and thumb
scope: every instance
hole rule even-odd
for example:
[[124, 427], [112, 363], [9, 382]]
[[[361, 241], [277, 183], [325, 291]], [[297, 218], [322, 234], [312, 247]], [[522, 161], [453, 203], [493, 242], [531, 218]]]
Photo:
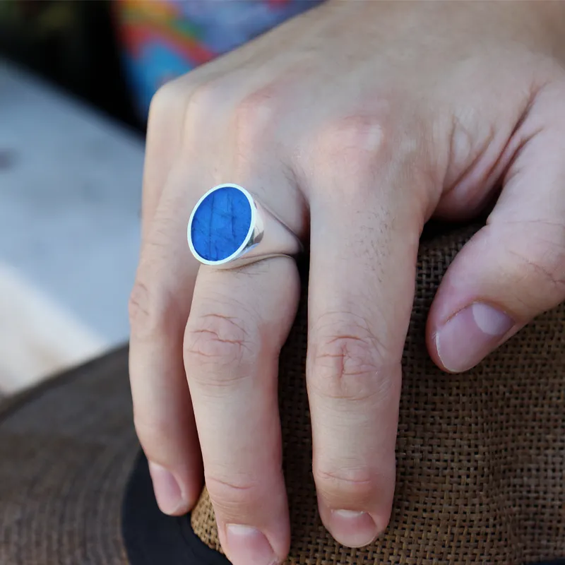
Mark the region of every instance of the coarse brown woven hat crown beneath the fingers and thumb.
[[[439, 371], [426, 352], [429, 305], [468, 236], [441, 237], [420, 250], [403, 360], [393, 516], [386, 534], [364, 549], [336, 544], [316, 511], [304, 287], [280, 362], [288, 564], [507, 565], [565, 556], [565, 308], [540, 316], [460, 376]], [[192, 525], [220, 550], [206, 492]]]

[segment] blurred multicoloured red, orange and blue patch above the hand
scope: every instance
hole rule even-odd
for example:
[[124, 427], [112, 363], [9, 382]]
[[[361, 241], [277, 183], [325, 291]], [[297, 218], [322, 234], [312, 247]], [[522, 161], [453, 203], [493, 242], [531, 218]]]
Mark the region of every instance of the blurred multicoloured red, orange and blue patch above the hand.
[[153, 94], [321, 0], [116, 0], [124, 65], [142, 117]]

